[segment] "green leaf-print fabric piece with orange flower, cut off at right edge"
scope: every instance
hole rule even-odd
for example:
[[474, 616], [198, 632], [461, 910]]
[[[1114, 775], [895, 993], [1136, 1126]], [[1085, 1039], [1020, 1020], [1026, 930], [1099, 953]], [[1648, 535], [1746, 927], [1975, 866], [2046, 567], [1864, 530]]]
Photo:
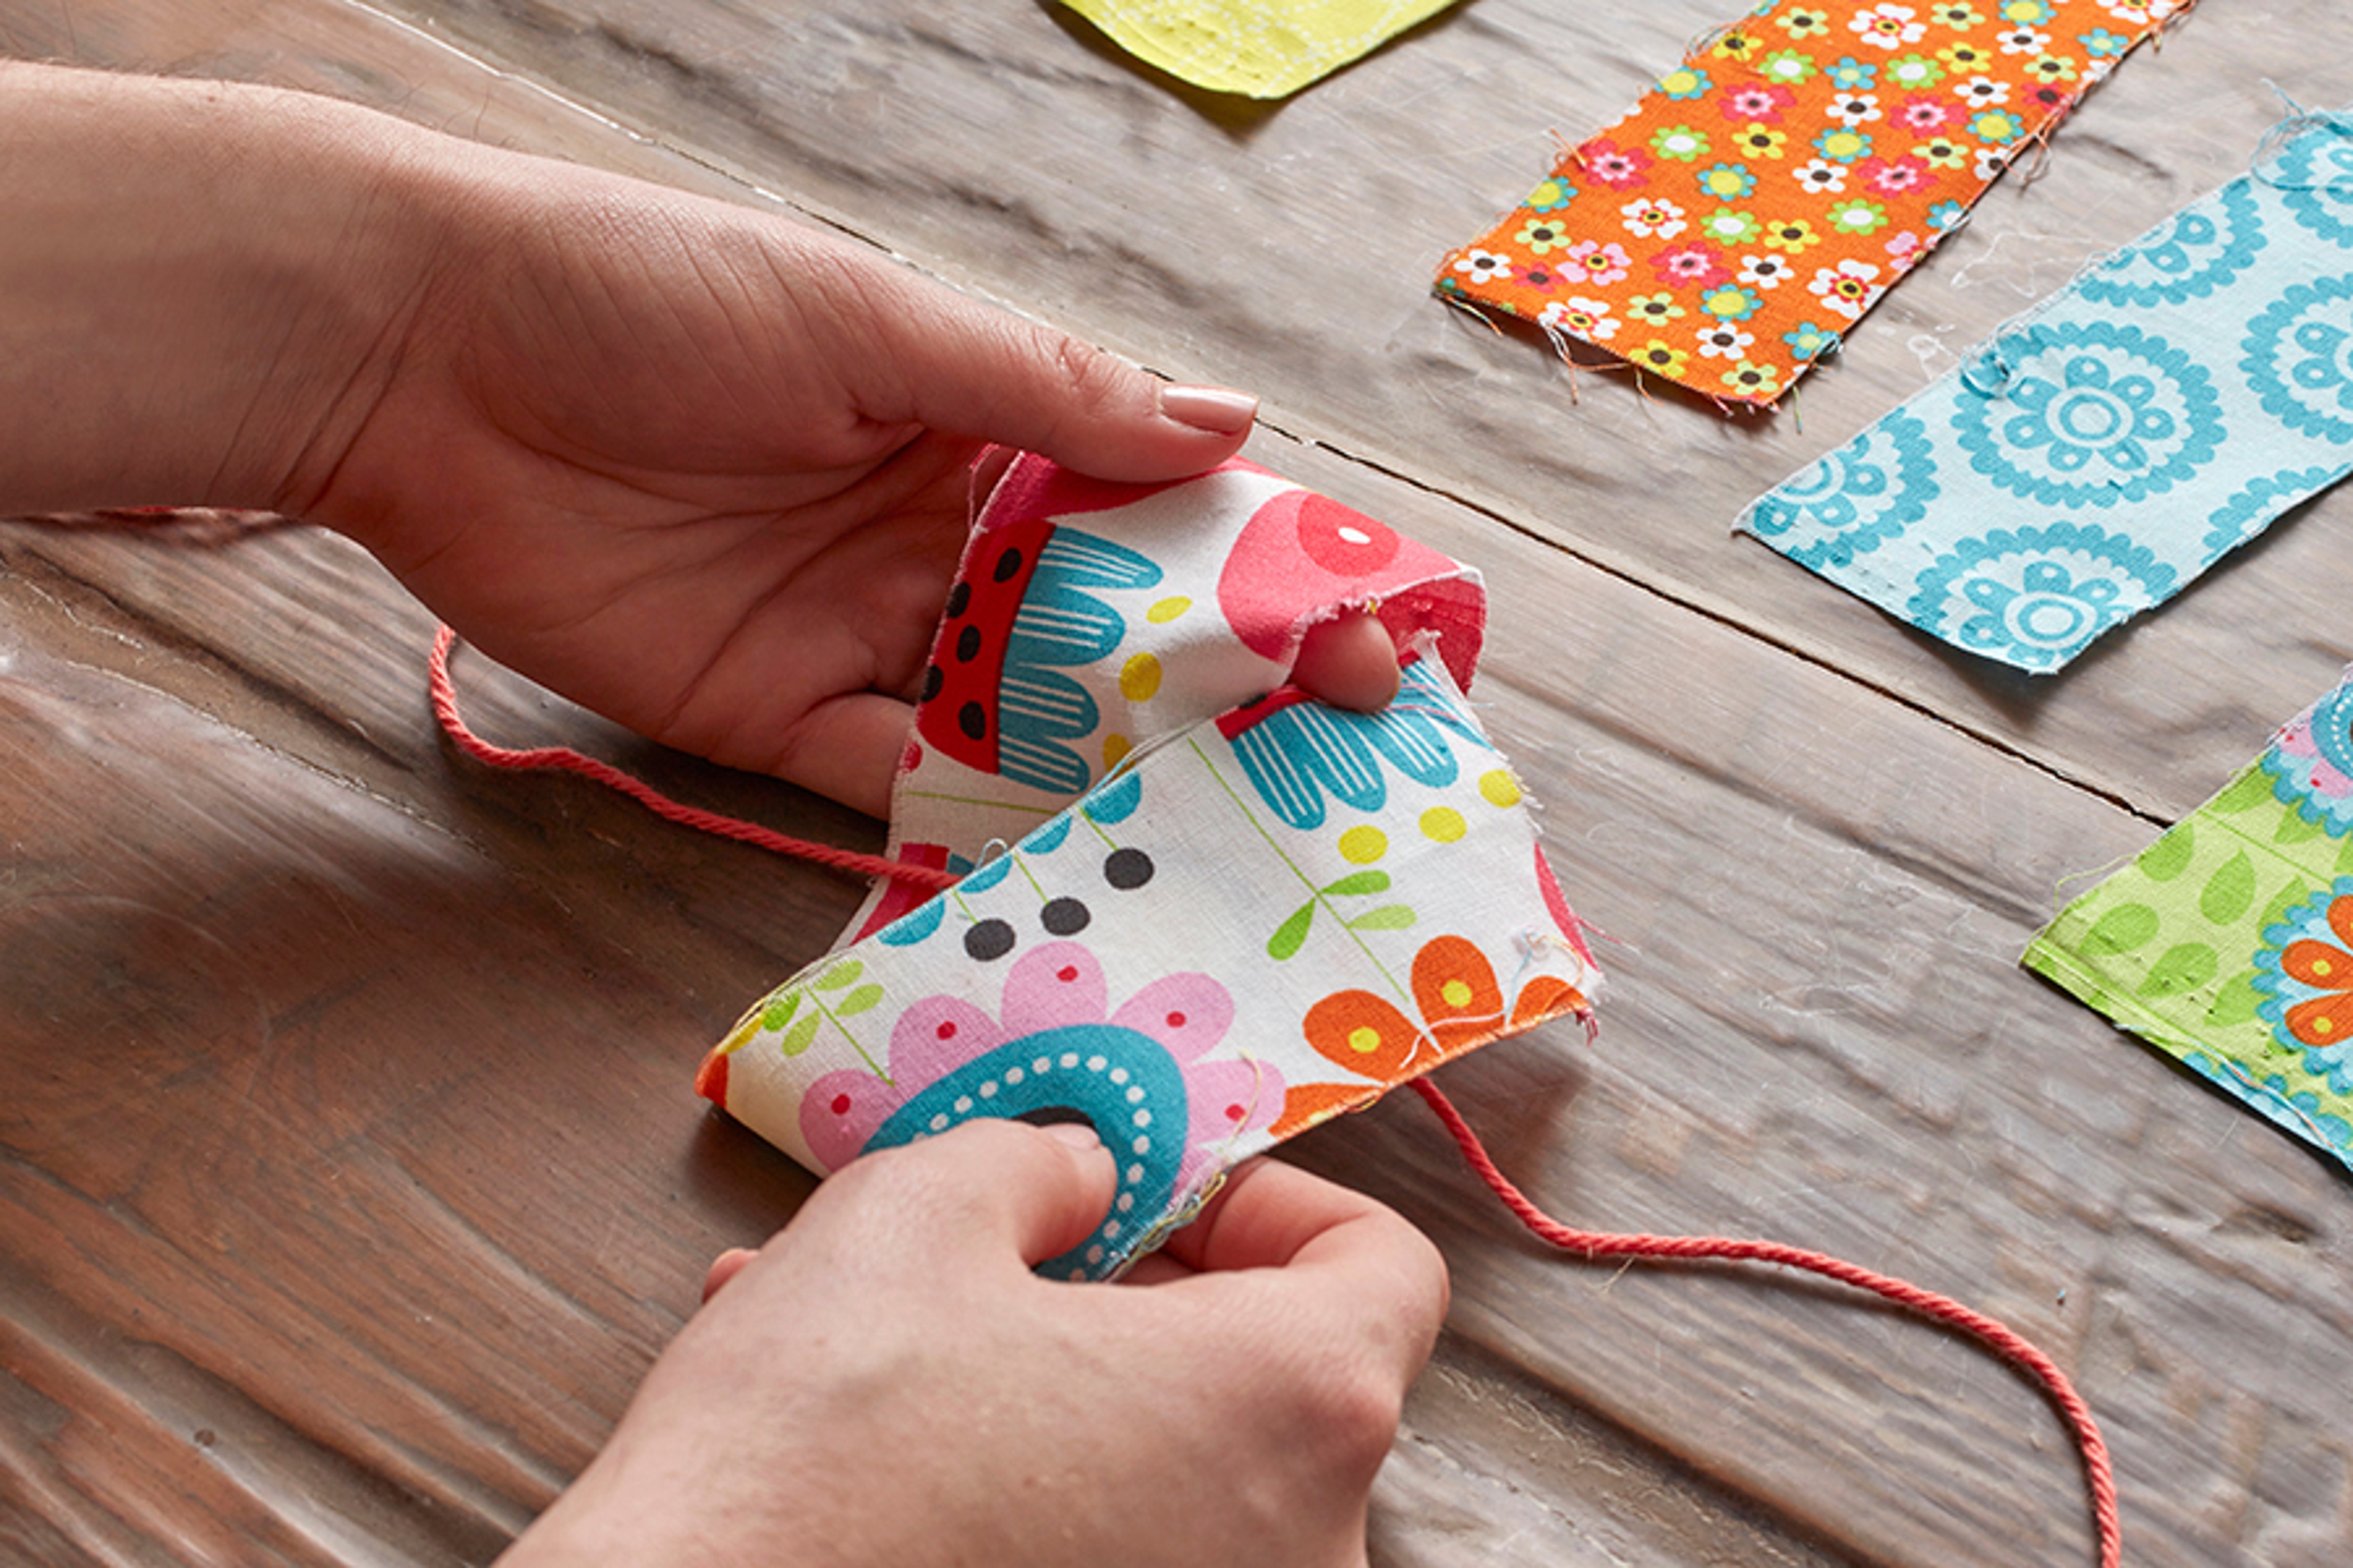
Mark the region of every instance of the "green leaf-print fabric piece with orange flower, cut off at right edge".
[[2353, 1166], [2353, 670], [2021, 961]]

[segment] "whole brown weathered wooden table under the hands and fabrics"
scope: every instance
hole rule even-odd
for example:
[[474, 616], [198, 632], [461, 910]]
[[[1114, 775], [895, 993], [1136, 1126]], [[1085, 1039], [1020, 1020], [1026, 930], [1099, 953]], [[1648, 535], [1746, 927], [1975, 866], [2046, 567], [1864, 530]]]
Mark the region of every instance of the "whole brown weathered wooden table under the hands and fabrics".
[[[2089, 5], [2089, 0], [2078, 0]], [[1471, 0], [1282, 106], [1042, 0], [0, 0], [0, 47], [344, 94], [776, 207], [1181, 378], [1487, 569], [1480, 693], [1607, 933], [1595, 1046], [1447, 1072], [1574, 1220], [1769, 1234], [2040, 1340], [2134, 1563], [2353, 1561], [2353, 1187], [2014, 957], [2348, 656], [2334, 494], [2057, 679], [1727, 522], [2009, 313], [2353, 99], [2341, 0], [2212, 0], [1769, 418], [1574, 376], [1438, 254], [1727, 0]], [[828, 872], [456, 759], [431, 621], [287, 527], [0, 527], [0, 1559], [482, 1563], [798, 1173], [689, 1093]], [[873, 844], [485, 665], [478, 722]], [[1297, 1157], [1445, 1246], [1379, 1563], [2085, 1563], [2035, 1392], [1751, 1269], [1546, 1255], [1398, 1098]]]

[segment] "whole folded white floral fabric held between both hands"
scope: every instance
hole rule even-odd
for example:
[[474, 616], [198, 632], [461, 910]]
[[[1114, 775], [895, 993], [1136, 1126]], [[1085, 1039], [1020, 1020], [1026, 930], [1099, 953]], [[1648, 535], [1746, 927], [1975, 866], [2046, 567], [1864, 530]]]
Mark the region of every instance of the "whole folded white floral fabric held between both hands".
[[[1381, 712], [1287, 684], [1369, 609]], [[1108, 1276], [1233, 1161], [1548, 1018], [1598, 971], [1461, 686], [1478, 574], [1252, 463], [1106, 484], [1019, 456], [974, 520], [882, 879], [696, 1088], [812, 1171], [972, 1117], [1120, 1157]], [[936, 884], [934, 884], [936, 886]]]

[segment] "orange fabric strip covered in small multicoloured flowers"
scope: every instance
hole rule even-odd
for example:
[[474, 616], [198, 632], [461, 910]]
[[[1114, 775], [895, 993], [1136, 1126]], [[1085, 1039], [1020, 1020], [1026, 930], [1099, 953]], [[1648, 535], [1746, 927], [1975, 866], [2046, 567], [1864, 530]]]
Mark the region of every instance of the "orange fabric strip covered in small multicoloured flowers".
[[1581, 146], [1438, 292], [1772, 404], [2193, 0], [1762, 0]]

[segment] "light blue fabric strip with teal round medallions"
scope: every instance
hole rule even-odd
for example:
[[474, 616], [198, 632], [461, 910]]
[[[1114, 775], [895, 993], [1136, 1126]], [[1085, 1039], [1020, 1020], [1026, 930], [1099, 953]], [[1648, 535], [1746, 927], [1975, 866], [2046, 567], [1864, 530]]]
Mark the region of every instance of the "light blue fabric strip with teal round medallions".
[[1953, 646], [2057, 670], [2353, 468], [2353, 118], [2184, 207], [1739, 527]]

